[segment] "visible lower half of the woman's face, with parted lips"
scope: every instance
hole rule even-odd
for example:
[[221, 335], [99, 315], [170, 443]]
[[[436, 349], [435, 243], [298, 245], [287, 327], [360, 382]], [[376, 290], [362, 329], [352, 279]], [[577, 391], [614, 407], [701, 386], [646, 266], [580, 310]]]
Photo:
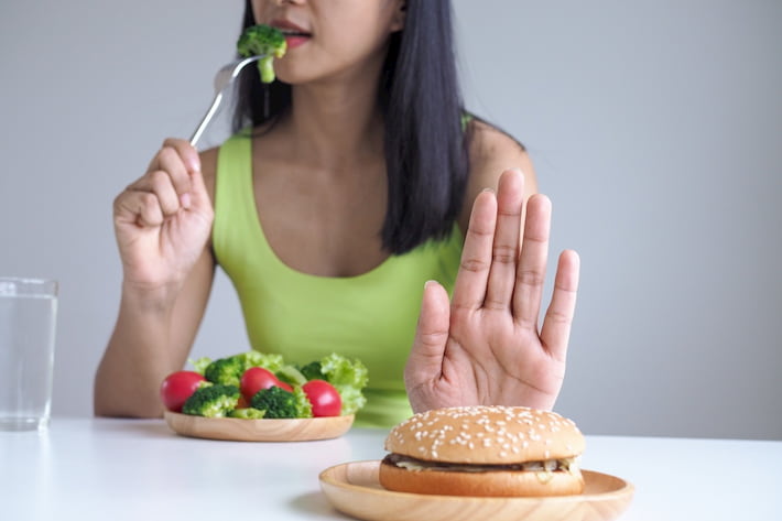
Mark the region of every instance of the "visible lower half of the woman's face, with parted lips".
[[382, 63], [390, 34], [404, 24], [403, 0], [252, 0], [252, 12], [286, 34], [287, 53], [274, 70], [290, 84]]

